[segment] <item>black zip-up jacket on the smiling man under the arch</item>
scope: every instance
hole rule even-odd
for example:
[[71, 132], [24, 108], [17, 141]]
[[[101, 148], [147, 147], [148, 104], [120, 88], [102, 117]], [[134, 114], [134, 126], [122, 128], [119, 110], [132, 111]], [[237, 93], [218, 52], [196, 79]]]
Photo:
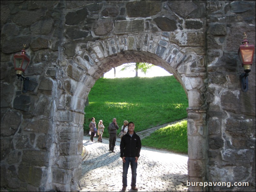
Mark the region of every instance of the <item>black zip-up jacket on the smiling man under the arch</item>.
[[120, 157], [139, 157], [141, 141], [139, 136], [133, 131], [132, 137], [129, 131], [122, 137], [120, 143]]

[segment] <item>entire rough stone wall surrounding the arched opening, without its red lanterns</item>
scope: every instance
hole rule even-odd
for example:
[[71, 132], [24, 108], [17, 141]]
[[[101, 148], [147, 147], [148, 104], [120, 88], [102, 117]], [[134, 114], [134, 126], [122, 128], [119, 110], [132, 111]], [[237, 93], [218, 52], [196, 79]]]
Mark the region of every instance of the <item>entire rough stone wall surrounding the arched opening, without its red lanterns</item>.
[[[1, 1], [1, 187], [77, 190], [90, 89], [112, 67], [148, 62], [188, 96], [189, 182], [250, 184], [189, 190], [255, 190], [255, 63], [241, 92], [236, 61], [244, 30], [255, 44], [254, 1]], [[23, 43], [26, 93], [13, 70]]]

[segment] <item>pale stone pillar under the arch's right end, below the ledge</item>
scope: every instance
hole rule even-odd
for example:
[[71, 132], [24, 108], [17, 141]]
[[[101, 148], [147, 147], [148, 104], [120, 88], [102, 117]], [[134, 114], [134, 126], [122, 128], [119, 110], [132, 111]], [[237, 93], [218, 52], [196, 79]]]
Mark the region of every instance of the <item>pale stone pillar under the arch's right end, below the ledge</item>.
[[205, 191], [201, 186], [194, 186], [194, 182], [207, 180], [207, 108], [187, 108], [188, 135], [188, 186], [189, 191]]

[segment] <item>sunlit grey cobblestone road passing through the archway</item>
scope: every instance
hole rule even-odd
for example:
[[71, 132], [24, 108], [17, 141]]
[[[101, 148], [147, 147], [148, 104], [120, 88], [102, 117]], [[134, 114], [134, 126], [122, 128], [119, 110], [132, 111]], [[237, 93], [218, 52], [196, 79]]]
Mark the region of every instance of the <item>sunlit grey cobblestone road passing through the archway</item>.
[[[109, 152], [109, 140], [91, 142], [84, 136], [86, 156], [82, 161], [80, 191], [121, 191], [122, 159], [120, 158], [120, 139], [117, 139], [115, 153]], [[142, 147], [137, 168], [137, 185], [139, 191], [187, 191], [186, 155], [169, 151]], [[127, 174], [126, 191], [133, 191], [131, 168]]]

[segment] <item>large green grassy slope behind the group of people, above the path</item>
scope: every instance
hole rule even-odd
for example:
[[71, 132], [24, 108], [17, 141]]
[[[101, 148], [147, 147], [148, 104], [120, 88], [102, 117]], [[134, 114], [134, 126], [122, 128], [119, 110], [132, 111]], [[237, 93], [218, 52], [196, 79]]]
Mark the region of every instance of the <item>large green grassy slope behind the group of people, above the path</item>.
[[[136, 132], [187, 118], [188, 99], [173, 76], [100, 78], [92, 87], [88, 100], [85, 134], [89, 132], [92, 117], [97, 124], [102, 120], [106, 128], [113, 118], [117, 118], [120, 129], [124, 120], [132, 121]], [[103, 137], [109, 137], [107, 129]]]

